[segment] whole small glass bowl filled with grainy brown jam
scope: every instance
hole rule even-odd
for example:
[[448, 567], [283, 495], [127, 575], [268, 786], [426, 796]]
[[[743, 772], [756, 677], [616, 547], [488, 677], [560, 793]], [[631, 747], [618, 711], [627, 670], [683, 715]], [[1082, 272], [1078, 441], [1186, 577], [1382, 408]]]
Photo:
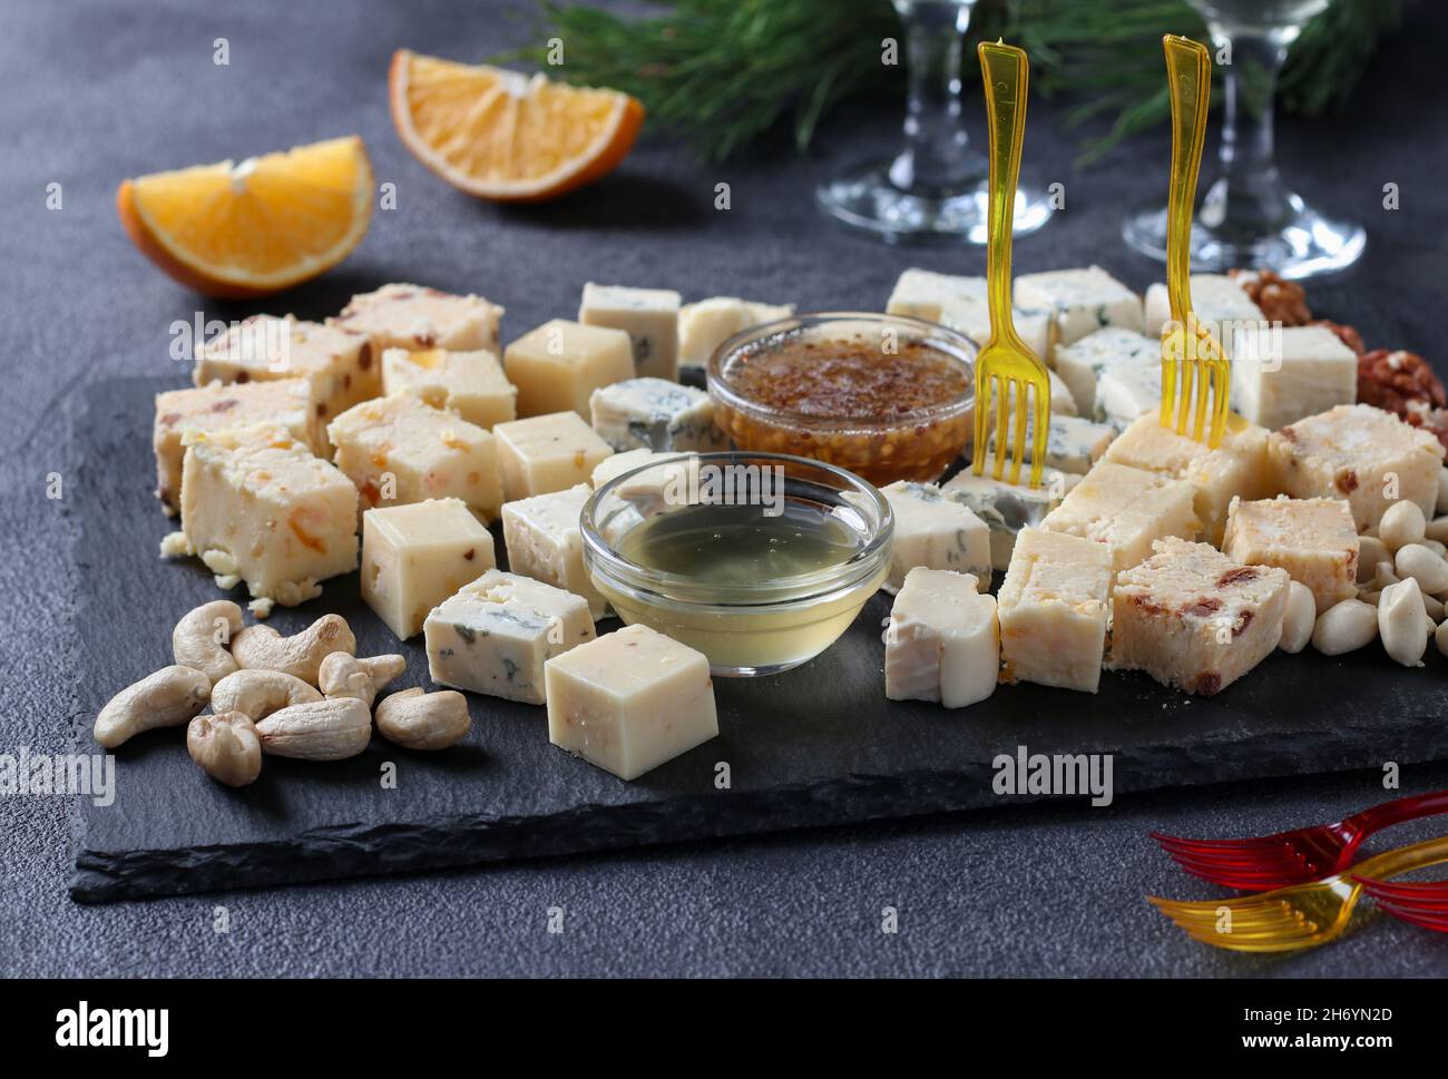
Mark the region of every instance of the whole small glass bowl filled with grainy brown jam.
[[935, 479], [970, 443], [975, 355], [969, 337], [922, 319], [821, 311], [730, 337], [707, 378], [736, 448], [883, 485]]

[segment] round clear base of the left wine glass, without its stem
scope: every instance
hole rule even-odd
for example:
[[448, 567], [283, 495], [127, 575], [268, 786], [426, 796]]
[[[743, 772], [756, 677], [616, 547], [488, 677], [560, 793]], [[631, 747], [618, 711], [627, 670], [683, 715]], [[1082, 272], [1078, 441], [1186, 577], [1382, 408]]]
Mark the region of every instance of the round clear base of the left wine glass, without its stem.
[[[827, 180], [815, 188], [815, 203], [837, 222], [891, 243], [967, 242], [989, 238], [986, 178], [960, 191], [921, 194], [891, 182], [891, 162]], [[1045, 191], [1019, 184], [1015, 193], [1015, 235], [1035, 232], [1051, 216]]]

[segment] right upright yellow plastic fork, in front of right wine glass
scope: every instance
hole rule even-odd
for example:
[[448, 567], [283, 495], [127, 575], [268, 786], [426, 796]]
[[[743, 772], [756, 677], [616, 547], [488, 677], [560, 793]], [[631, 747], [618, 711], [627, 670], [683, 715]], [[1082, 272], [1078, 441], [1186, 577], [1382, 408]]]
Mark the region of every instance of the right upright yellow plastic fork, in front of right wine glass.
[[[1222, 443], [1226, 426], [1231, 366], [1221, 343], [1197, 323], [1192, 311], [1190, 284], [1192, 206], [1202, 167], [1206, 110], [1212, 101], [1212, 59], [1205, 45], [1174, 33], [1166, 35], [1161, 46], [1167, 54], [1167, 85], [1171, 93], [1171, 187], [1167, 196], [1167, 295], [1171, 301], [1171, 322], [1161, 332], [1161, 426], [1171, 427], [1171, 413], [1176, 411], [1177, 434], [1186, 434], [1187, 419], [1195, 413], [1192, 439], [1215, 449]], [[1212, 427], [1206, 432], [1209, 395]]]

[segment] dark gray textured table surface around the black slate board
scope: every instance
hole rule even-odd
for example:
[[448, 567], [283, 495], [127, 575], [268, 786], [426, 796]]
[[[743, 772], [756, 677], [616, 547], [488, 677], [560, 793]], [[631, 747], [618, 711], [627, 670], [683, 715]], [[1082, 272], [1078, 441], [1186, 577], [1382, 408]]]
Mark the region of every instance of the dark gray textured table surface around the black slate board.
[[[1309, 197], [1368, 226], [1351, 275], [1312, 285], [1315, 306], [1370, 345], [1435, 359], [1448, 281], [1448, 119], [1432, 48], [1444, 17], [1420, 4], [1397, 55], [1383, 55], [1351, 106], [1281, 126], [1283, 165]], [[75, 520], [120, 492], [87, 487], [68, 445], [77, 387], [184, 369], [169, 326], [248, 307], [201, 301], [130, 248], [114, 217], [126, 175], [245, 156], [359, 132], [398, 209], [379, 213], [333, 274], [281, 298], [320, 317], [387, 280], [472, 290], [508, 307], [517, 333], [576, 306], [588, 278], [666, 282], [795, 301], [877, 307], [906, 265], [982, 272], [979, 251], [895, 252], [820, 220], [821, 171], [879, 148], [893, 103], [838, 117], [815, 156], [785, 151], [702, 167], [643, 145], [604, 184], [552, 207], [501, 210], [446, 188], [401, 149], [384, 72], [397, 46], [456, 58], [515, 41], [484, 3], [0, 4], [0, 326], [6, 350], [0, 482], [0, 752], [65, 749], [74, 679], [93, 634], [77, 624]], [[211, 62], [230, 42], [230, 65]], [[1145, 58], [1156, 62], [1156, 58]], [[1422, 101], [1422, 104], [1420, 104]], [[979, 123], [973, 127], [979, 130]], [[1048, 106], [1032, 104], [1027, 162], [1061, 180], [1067, 209], [1016, 245], [1021, 271], [1100, 262], [1137, 288], [1160, 277], [1118, 240], [1125, 203], [1163, 188], [1164, 145], [1144, 139], [1077, 174]], [[714, 184], [733, 209], [711, 207]], [[62, 209], [46, 209], [61, 184]], [[1402, 209], [1386, 211], [1383, 185]], [[1442, 364], [1438, 364], [1442, 369]], [[139, 421], [139, 420], [138, 420]], [[59, 474], [64, 498], [48, 500]], [[125, 497], [130, 497], [127, 492]], [[116, 552], [116, 572], [149, 552]], [[1384, 660], [1387, 662], [1387, 660]], [[1344, 702], [1350, 711], [1351, 701]], [[961, 721], [969, 721], [963, 717]], [[1030, 742], [1030, 731], [1022, 731]], [[1448, 765], [1403, 771], [1405, 791], [1448, 786]], [[74, 905], [70, 805], [0, 798], [0, 972], [71, 975], [319, 973], [980, 973], [1436, 975], [1448, 939], [1374, 920], [1348, 940], [1286, 960], [1186, 941], [1142, 901], [1205, 898], [1145, 839], [1253, 834], [1332, 820], [1381, 799], [1377, 773], [1221, 785], [1124, 798], [1108, 810], [1002, 807], [911, 823], [785, 834], [478, 872], [269, 892]], [[1403, 827], [1392, 840], [1431, 834]], [[224, 907], [230, 933], [214, 931]], [[880, 931], [882, 911], [899, 931]], [[563, 933], [549, 933], [562, 910]]]

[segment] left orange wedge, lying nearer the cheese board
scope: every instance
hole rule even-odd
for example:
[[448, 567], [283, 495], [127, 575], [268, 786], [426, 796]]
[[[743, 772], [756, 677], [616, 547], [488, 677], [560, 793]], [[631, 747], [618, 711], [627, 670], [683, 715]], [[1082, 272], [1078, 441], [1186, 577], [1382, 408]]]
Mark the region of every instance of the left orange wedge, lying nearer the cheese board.
[[372, 217], [372, 167], [353, 135], [126, 180], [116, 210], [142, 253], [188, 288], [266, 295], [352, 253]]

